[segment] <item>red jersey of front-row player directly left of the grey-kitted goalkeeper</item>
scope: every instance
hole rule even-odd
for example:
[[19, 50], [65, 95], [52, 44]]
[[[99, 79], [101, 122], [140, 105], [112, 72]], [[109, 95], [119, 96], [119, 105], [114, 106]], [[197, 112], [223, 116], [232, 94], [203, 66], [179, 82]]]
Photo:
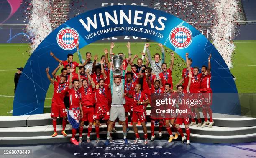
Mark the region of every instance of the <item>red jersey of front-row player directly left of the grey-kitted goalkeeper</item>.
[[96, 94], [96, 106], [99, 105], [108, 105], [108, 85], [105, 84], [104, 88], [94, 88]]

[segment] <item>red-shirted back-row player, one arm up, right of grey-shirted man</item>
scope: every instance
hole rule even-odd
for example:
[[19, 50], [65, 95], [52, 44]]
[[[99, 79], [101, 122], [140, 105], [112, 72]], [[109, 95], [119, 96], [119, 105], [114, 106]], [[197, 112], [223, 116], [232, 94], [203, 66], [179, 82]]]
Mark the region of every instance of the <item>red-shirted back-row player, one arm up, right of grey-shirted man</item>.
[[159, 73], [159, 77], [158, 79], [160, 80], [160, 87], [164, 87], [165, 83], [169, 83], [171, 84], [171, 89], [173, 88], [173, 84], [172, 84], [172, 68], [174, 65], [174, 53], [171, 52], [171, 56], [172, 56], [172, 61], [171, 61], [171, 65], [169, 67], [169, 69], [167, 69], [167, 64], [166, 63], [162, 63], [162, 72]]

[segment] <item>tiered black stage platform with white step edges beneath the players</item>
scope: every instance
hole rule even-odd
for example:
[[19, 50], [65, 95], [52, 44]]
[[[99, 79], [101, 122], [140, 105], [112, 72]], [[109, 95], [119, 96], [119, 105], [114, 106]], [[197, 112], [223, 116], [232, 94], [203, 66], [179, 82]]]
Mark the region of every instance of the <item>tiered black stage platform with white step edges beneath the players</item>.
[[[147, 130], [148, 137], [151, 137], [150, 131], [150, 111], [147, 111]], [[201, 114], [202, 115], [202, 114]], [[242, 117], [237, 115], [213, 114], [214, 126], [212, 128], [191, 126], [191, 142], [198, 143], [245, 143], [256, 141], [256, 118]], [[57, 120], [59, 123], [59, 120]], [[100, 139], [106, 139], [107, 127], [104, 122], [100, 127]], [[84, 126], [83, 139], [87, 136], [87, 127]], [[113, 139], [123, 137], [122, 125], [116, 123], [117, 132], [112, 133]], [[134, 139], [132, 126], [128, 126], [130, 131], [127, 137]], [[184, 125], [181, 126], [185, 133]], [[44, 143], [64, 143], [69, 142], [72, 128], [69, 124], [66, 127], [67, 137], [61, 135], [61, 125], [57, 125], [58, 135], [51, 137], [53, 133], [52, 118], [49, 113], [26, 116], [2, 116], [0, 117], [0, 144], [44, 144]], [[158, 139], [158, 129], [155, 127], [156, 140]], [[138, 126], [138, 132], [143, 138], [143, 130]], [[78, 132], [78, 131], [77, 131]], [[169, 135], [166, 128], [163, 128], [163, 137], [168, 140]], [[173, 134], [175, 134], [173, 132]], [[77, 133], [77, 136], [79, 134]], [[91, 140], [96, 139], [95, 127], [93, 126]], [[181, 138], [177, 139], [179, 141]], [[176, 140], [175, 140], [176, 141]]]

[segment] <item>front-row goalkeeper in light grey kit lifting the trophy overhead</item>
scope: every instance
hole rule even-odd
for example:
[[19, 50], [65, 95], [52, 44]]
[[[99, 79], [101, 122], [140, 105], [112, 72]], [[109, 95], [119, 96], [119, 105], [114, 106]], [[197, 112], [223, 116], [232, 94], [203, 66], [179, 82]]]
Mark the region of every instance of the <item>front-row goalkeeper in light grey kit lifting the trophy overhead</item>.
[[113, 66], [110, 68], [110, 87], [111, 87], [111, 95], [112, 95], [112, 103], [110, 109], [110, 123], [108, 125], [107, 131], [107, 140], [105, 145], [110, 144], [110, 135], [111, 130], [113, 128], [113, 123], [116, 118], [121, 121], [123, 125], [123, 141], [125, 144], [128, 144], [128, 140], [126, 138], [126, 123], [125, 123], [125, 108], [123, 104], [125, 104], [125, 95], [124, 93], [124, 85], [125, 85], [125, 70], [122, 70], [122, 77], [113, 75]]

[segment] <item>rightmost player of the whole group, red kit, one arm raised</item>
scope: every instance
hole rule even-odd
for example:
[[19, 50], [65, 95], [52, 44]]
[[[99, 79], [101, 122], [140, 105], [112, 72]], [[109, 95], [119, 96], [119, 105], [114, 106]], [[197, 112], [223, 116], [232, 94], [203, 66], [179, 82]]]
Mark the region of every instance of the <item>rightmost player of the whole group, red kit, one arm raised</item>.
[[[205, 127], [205, 125], [208, 125], [208, 127], [212, 127], [213, 125], [213, 120], [212, 120], [212, 109], [211, 109], [211, 105], [212, 105], [212, 88], [211, 88], [211, 78], [212, 78], [212, 74], [211, 74], [211, 57], [212, 55], [209, 55], [208, 58], [208, 67], [207, 66], [202, 66], [201, 68], [201, 73], [202, 73], [202, 77], [201, 77], [201, 81], [200, 81], [200, 92], [202, 93], [201, 98], [204, 98], [204, 105], [202, 107], [202, 112], [205, 118], [205, 122], [202, 124], [201, 127]], [[207, 118], [207, 112], [209, 114], [210, 117], [210, 122]]]

